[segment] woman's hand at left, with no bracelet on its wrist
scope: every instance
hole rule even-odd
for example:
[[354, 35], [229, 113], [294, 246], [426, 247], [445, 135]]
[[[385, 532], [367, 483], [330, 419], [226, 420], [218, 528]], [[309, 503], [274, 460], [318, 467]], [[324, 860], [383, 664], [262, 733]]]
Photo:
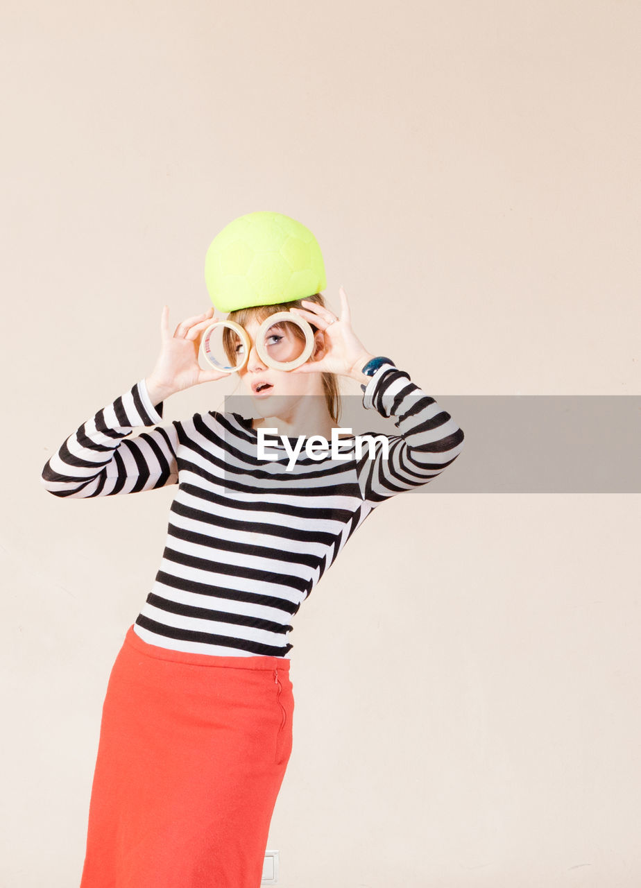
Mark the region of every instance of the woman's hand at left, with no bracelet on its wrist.
[[212, 317], [213, 313], [214, 309], [211, 306], [206, 312], [181, 321], [172, 335], [169, 305], [162, 306], [161, 353], [154, 369], [145, 380], [147, 391], [154, 403], [159, 403], [170, 394], [182, 392], [192, 385], [228, 376], [221, 370], [202, 370], [198, 363], [202, 334], [211, 324], [221, 320]]

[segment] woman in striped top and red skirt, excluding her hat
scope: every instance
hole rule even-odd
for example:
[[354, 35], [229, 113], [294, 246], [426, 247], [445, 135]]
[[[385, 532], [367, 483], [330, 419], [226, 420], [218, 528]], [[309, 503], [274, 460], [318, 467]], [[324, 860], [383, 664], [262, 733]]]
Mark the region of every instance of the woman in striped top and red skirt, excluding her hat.
[[[376, 506], [428, 483], [463, 447], [451, 416], [360, 343], [340, 298], [340, 318], [321, 293], [230, 313], [249, 334], [238, 372], [261, 416], [211, 410], [131, 438], [162, 422], [170, 394], [226, 376], [197, 361], [212, 309], [171, 335], [164, 306], [154, 371], [44, 466], [44, 486], [61, 497], [178, 484], [160, 569], [107, 686], [81, 888], [258, 888], [292, 745], [289, 621]], [[272, 369], [255, 336], [288, 309], [312, 325], [313, 353]], [[229, 329], [223, 341], [228, 358], [242, 347]], [[387, 459], [348, 437], [341, 458], [301, 451], [288, 469], [273, 432], [277, 458], [260, 458], [261, 428], [290, 442], [309, 430], [331, 438], [338, 377], [360, 382], [365, 408], [396, 417]], [[257, 394], [257, 382], [271, 387]]]

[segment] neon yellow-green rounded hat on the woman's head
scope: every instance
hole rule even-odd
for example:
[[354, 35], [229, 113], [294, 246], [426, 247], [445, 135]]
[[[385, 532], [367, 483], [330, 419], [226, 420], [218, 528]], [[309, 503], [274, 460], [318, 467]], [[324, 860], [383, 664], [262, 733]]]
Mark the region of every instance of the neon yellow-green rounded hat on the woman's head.
[[261, 210], [233, 219], [210, 243], [205, 284], [221, 312], [305, 299], [327, 286], [321, 248], [296, 219]]

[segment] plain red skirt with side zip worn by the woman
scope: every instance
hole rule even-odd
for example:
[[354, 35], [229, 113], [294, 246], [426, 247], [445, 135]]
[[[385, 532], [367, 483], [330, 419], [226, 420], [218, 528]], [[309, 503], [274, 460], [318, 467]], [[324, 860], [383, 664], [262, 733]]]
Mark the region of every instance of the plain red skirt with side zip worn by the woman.
[[292, 748], [289, 660], [127, 630], [102, 708], [80, 888], [260, 888]]

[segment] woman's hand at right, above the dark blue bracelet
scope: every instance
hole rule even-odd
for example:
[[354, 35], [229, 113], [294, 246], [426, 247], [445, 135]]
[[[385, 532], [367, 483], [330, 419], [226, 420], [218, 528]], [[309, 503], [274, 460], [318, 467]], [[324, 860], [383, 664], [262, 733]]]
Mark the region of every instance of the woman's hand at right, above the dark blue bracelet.
[[321, 329], [325, 334], [325, 354], [318, 361], [310, 358], [290, 373], [338, 373], [347, 377], [355, 377], [372, 355], [360, 342], [352, 330], [350, 306], [347, 304], [347, 295], [342, 287], [338, 289], [341, 297], [341, 316], [331, 313], [328, 308], [312, 302], [309, 299], [301, 299], [301, 302], [309, 307], [290, 308], [289, 311], [299, 314], [305, 321]]

